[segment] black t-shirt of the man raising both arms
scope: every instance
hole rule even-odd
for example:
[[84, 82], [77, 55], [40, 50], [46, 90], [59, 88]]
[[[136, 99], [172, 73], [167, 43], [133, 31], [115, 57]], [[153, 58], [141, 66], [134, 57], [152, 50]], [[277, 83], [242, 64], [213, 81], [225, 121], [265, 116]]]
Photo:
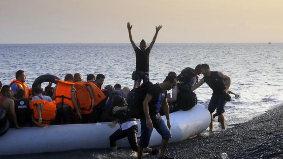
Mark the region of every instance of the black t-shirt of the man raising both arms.
[[138, 47], [135, 48], [136, 53], [136, 71], [148, 72], [149, 71], [149, 53], [150, 49], [145, 49], [142, 52]]

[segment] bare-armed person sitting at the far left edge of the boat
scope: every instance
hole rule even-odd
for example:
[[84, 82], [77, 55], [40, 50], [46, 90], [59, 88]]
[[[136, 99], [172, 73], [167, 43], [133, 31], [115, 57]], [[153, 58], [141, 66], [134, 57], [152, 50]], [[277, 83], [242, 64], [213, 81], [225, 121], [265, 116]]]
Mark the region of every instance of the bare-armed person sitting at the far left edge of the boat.
[[[20, 128], [17, 122], [17, 116], [15, 113], [15, 103], [11, 99], [13, 97], [13, 92], [10, 86], [4, 85], [1, 89], [2, 96], [0, 97], [0, 107], [3, 107], [8, 114], [9, 122], [12, 120], [16, 128]], [[10, 118], [9, 118], [10, 117]]]

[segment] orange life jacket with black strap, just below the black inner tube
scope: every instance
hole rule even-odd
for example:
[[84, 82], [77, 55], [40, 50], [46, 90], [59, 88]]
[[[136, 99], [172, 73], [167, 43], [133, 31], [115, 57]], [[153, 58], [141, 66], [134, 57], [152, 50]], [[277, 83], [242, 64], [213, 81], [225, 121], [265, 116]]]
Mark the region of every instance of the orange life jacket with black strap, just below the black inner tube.
[[68, 104], [72, 109], [74, 109], [74, 105], [71, 98], [71, 86], [74, 86], [75, 83], [68, 82], [68, 81], [61, 81], [56, 79], [55, 81], [58, 82], [57, 88], [56, 88], [56, 103], [66, 103]]

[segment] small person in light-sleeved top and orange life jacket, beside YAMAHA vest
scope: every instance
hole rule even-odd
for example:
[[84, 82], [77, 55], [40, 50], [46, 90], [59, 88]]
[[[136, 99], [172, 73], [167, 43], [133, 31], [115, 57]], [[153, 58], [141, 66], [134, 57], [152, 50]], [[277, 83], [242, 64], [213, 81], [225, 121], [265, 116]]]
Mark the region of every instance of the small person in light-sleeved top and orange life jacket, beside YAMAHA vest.
[[33, 87], [32, 93], [30, 108], [33, 123], [42, 127], [50, 125], [56, 116], [56, 102], [50, 96], [42, 95], [40, 87]]

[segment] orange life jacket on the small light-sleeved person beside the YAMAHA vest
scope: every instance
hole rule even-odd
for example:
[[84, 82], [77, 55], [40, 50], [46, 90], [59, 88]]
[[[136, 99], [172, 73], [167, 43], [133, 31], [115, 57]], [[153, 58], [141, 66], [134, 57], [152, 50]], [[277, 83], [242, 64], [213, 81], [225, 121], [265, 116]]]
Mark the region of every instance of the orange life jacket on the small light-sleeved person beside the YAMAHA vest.
[[[43, 103], [43, 109], [41, 111], [42, 122], [38, 123], [38, 113], [36, 109], [36, 105]], [[35, 99], [31, 100], [30, 103], [31, 109], [31, 120], [38, 126], [48, 126], [55, 119], [56, 116], [56, 101], [48, 102], [43, 99]]]

